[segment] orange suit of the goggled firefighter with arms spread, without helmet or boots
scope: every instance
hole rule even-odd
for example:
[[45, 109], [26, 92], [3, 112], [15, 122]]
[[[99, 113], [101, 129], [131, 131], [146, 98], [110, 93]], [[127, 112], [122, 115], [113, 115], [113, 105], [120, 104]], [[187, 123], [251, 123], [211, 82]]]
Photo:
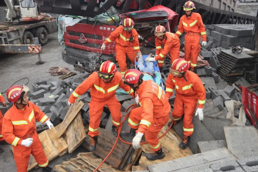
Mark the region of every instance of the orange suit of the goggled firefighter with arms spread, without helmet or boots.
[[133, 94], [133, 90], [125, 85], [122, 80], [122, 74], [117, 72], [110, 83], [105, 83], [103, 79], [98, 77], [98, 72], [93, 72], [73, 91], [68, 101], [74, 103], [80, 95], [91, 89], [91, 102], [89, 103], [89, 135], [91, 137], [99, 135], [99, 123], [102, 115], [103, 107], [107, 105], [112, 115], [112, 123], [115, 126], [120, 125], [122, 118], [121, 104], [116, 99], [116, 89], [121, 87], [126, 92]]

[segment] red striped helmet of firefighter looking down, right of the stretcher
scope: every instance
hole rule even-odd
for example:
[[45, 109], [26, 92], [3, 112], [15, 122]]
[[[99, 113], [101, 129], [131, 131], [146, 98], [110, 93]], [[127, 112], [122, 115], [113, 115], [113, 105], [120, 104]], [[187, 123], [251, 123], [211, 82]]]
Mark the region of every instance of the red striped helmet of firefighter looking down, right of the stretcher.
[[174, 76], [184, 73], [189, 69], [189, 63], [184, 58], [178, 58], [172, 63], [170, 73]]

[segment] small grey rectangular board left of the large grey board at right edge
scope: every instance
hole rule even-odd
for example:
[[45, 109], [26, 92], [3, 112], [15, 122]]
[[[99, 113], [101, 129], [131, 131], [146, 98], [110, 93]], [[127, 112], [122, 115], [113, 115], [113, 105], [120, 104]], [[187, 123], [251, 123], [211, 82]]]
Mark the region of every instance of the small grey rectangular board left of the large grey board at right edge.
[[210, 140], [205, 142], [197, 142], [199, 147], [199, 152], [207, 152], [210, 150], [215, 150], [218, 148], [227, 147], [226, 140]]

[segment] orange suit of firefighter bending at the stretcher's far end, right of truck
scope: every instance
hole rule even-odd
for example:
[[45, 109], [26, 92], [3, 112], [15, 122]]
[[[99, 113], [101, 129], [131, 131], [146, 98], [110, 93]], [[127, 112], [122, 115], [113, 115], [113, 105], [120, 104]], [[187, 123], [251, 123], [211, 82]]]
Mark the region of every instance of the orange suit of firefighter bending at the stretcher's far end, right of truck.
[[155, 60], [158, 60], [159, 68], [163, 67], [165, 57], [168, 53], [170, 54], [170, 64], [172, 64], [174, 60], [179, 58], [180, 40], [176, 34], [166, 32], [163, 40], [158, 39], [158, 37], [156, 36], [155, 46], [155, 54], [157, 54], [157, 56], [155, 56]]

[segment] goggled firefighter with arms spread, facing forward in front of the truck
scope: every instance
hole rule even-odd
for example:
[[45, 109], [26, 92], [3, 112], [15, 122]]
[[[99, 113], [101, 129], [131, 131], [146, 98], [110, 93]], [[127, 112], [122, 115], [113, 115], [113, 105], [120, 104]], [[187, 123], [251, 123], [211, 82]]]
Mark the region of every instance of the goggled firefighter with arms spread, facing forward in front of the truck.
[[124, 85], [122, 75], [117, 72], [116, 65], [108, 60], [101, 64], [98, 72], [93, 72], [89, 75], [89, 77], [73, 91], [68, 99], [68, 104], [72, 105], [75, 99], [86, 93], [88, 89], [91, 89], [91, 102], [89, 103], [90, 151], [96, 149], [100, 118], [105, 105], [107, 105], [112, 115], [112, 132], [115, 136], [118, 136], [118, 128], [122, 117], [120, 112], [121, 104], [116, 99], [115, 95], [118, 87], [123, 88], [127, 93], [130, 93], [130, 95], [133, 94], [133, 90], [128, 85]]

